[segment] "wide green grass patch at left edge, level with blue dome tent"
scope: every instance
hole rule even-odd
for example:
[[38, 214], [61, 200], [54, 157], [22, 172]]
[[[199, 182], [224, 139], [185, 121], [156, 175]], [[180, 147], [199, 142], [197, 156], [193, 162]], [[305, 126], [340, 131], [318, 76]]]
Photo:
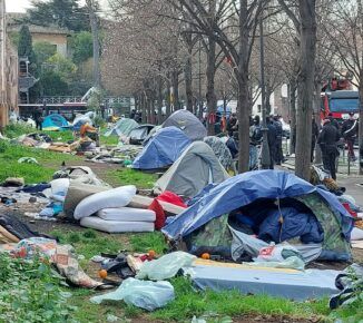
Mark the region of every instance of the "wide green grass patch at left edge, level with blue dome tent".
[[[19, 164], [21, 157], [33, 157], [39, 165]], [[0, 141], [0, 182], [8, 177], [23, 177], [27, 184], [49, 182], [57, 167], [43, 167], [43, 163], [51, 161], [59, 166], [65, 160], [78, 159], [72, 155], [51, 153], [45, 149], [28, 148], [20, 145]]]

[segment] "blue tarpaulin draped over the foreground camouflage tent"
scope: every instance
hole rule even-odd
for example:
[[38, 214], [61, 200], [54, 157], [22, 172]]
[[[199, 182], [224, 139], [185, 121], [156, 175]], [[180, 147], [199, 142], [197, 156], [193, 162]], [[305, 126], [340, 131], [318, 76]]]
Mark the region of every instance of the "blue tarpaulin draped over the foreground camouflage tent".
[[246, 206], [257, 198], [287, 198], [317, 193], [342, 217], [342, 231], [349, 238], [352, 217], [335, 195], [282, 170], [256, 170], [234, 176], [206, 193], [198, 202], [163, 228], [170, 239], [187, 236], [210, 219]]

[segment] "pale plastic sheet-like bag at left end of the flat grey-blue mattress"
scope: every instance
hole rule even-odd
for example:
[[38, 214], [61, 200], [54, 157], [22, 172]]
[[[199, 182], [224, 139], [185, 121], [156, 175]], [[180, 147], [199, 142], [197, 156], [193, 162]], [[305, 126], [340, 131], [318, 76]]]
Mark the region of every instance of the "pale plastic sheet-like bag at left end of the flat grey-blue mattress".
[[139, 280], [164, 281], [174, 277], [182, 267], [192, 266], [196, 256], [185, 252], [175, 252], [156, 261], [144, 263], [136, 275]]

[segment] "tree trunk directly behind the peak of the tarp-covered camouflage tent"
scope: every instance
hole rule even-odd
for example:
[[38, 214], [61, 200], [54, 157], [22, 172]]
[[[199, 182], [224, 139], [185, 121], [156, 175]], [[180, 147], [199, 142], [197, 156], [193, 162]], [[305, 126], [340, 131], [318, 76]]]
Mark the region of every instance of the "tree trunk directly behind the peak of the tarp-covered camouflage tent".
[[249, 31], [246, 27], [248, 16], [247, 0], [239, 0], [239, 53], [238, 53], [238, 172], [248, 172], [249, 163], [249, 81], [248, 81], [248, 48]]

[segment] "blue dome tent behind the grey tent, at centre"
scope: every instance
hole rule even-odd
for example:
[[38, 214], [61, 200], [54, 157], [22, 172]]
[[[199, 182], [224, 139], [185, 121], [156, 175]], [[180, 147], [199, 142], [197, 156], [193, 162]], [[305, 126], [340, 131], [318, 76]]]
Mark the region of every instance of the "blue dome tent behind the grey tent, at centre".
[[135, 158], [133, 168], [157, 169], [170, 166], [192, 144], [177, 127], [160, 129]]

